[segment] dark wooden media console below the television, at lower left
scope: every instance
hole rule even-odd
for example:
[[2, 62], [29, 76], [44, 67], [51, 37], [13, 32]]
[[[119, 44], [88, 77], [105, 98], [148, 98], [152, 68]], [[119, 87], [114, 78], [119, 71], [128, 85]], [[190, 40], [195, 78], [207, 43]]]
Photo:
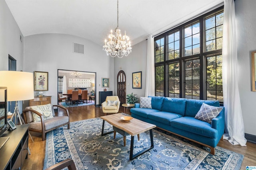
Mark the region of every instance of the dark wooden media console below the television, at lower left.
[[16, 127], [1, 136], [10, 138], [0, 149], [0, 170], [21, 169], [25, 158], [28, 158], [28, 124]]

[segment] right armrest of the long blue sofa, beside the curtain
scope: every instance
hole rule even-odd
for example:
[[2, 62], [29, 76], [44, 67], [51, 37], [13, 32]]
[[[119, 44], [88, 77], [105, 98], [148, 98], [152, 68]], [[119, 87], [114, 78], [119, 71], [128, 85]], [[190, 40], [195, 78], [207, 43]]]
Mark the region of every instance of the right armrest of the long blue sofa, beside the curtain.
[[[222, 106], [221, 106], [222, 107]], [[225, 128], [225, 107], [222, 107], [220, 114], [212, 119], [212, 128], [217, 129], [222, 134]]]

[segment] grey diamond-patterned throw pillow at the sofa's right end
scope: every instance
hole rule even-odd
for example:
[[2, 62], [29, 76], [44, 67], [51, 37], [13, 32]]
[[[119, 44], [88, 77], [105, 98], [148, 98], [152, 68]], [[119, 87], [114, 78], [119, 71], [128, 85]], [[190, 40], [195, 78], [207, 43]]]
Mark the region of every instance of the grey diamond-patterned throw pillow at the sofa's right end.
[[212, 123], [212, 119], [217, 117], [221, 111], [221, 107], [210, 106], [203, 103], [200, 110], [196, 113], [195, 118]]

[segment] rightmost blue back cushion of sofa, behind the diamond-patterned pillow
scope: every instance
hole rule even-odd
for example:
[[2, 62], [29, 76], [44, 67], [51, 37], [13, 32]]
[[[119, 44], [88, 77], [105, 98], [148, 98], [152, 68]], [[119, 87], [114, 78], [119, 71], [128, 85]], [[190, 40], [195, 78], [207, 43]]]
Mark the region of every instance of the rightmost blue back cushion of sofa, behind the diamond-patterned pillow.
[[195, 117], [196, 113], [200, 110], [203, 103], [208, 104], [210, 106], [220, 107], [220, 102], [217, 100], [210, 101], [210, 100], [188, 99], [186, 102], [185, 116]]

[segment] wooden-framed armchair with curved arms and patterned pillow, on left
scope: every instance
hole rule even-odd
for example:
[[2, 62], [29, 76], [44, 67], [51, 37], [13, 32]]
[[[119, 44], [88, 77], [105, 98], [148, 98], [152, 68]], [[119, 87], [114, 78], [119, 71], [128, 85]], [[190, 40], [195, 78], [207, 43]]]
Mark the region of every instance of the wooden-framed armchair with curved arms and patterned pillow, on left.
[[[54, 107], [61, 108], [62, 111], [55, 114]], [[25, 108], [23, 115], [25, 123], [29, 123], [28, 130], [42, 133], [42, 141], [45, 140], [46, 133], [53, 129], [64, 125], [70, 128], [68, 109], [63, 106], [52, 104], [29, 106]]]

